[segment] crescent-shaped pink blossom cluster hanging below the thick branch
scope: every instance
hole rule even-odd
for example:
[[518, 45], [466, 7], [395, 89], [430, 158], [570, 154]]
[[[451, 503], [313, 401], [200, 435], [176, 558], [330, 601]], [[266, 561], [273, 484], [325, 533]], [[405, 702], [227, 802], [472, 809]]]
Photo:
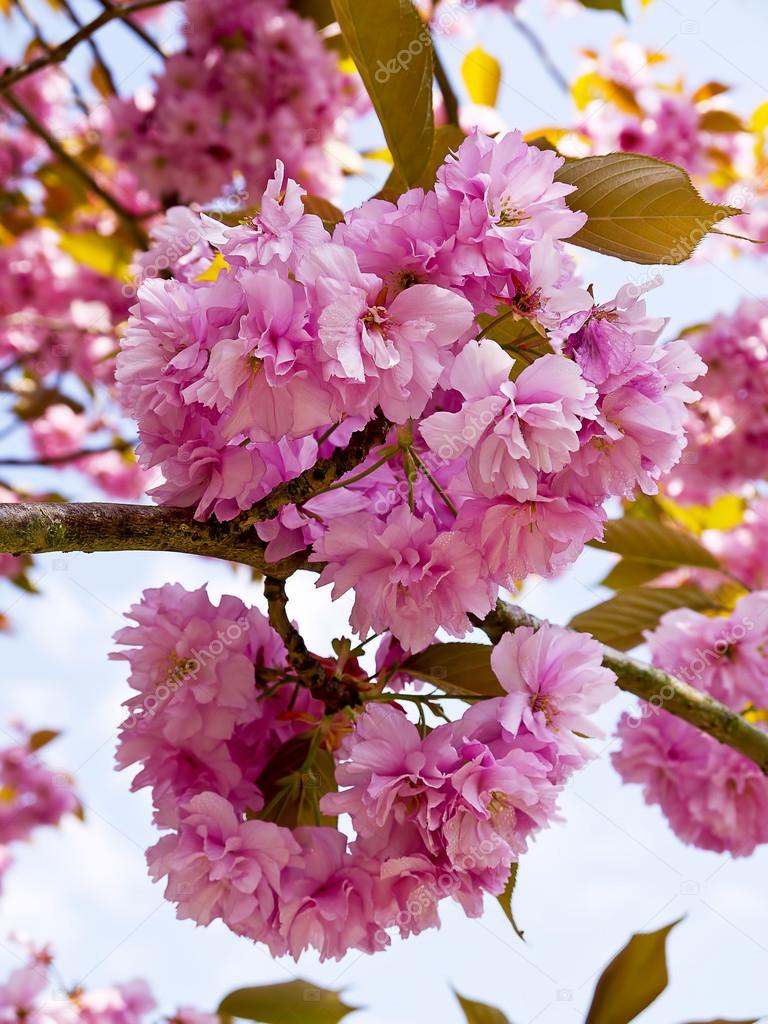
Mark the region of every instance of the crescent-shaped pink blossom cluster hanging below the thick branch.
[[[220, 919], [274, 955], [382, 949], [389, 930], [436, 926], [444, 897], [478, 914], [553, 820], [613, 691], [591, 638], [519, 629], [492, 655], [504, 695], [430, 731], [353, 658], [343, 671], [362, 706], [326, 715], [267, 620], [238, 598], [217, 606], [204, 589], [167, 585], [130, 617], [117, 637], [130, 649], [114, 655], [136, 691], [118, 764], [140, 767], [134, 788], [151, 788], [167, 830], [151, 873], [179, 916]], [[302, 801], [312, 813], [296, 811]], [[354, 836], [334, 826], [341, 813]]]

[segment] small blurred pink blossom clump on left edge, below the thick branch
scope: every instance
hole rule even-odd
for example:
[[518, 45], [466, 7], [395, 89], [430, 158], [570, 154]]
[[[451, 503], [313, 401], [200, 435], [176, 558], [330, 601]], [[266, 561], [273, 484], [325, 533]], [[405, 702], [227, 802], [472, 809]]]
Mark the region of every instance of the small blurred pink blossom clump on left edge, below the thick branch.
[[[10, 556], [0, 556], [0, 559]], [[56, 825], [80, 810], [72, 779], [50, 769], [37, 751], [50, 733], [20, 726], [9, 746], [0, 750], [0, 877], [12, 863], [11, 847], [42, 825]]]

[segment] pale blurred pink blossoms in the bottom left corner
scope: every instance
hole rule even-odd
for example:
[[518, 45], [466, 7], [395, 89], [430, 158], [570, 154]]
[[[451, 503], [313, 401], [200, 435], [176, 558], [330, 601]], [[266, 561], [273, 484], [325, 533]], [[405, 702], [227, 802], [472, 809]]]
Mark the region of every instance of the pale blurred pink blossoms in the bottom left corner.
[[[20, 940], [19, 940], [20, 941]], [[47, 946], [24, 942], [29, 963], [11, 971], [0, 984], [0, 1018], [31, 1024], [150, 1024], [157, 1002], [145, 981], [102, 988], [74, 987], [53, 992], [54, 959]], [[182, 1007], [171, 1018], [177, 1024], [216, 1024], [215, 1014]]]

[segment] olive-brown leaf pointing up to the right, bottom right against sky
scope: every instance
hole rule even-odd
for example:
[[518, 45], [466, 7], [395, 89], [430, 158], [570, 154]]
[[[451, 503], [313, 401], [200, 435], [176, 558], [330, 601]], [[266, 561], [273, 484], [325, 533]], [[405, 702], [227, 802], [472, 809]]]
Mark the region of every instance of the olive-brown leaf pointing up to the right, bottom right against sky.
[[679, 921], [657, 932], [633, 935], [603, 971], [585, 1024], [628, 1024], [667, 988], [667, 936]]

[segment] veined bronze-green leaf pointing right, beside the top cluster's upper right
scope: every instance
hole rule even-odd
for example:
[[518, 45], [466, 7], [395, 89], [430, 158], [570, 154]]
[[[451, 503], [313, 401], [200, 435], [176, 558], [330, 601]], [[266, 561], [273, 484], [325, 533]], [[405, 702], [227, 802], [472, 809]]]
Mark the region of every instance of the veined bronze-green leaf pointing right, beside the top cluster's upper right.
[[681, 167], [637, 154], [567, 160], [555, 177], [577, 186], [565, 202], [589, 217], [568, 242], [634, 263], [682, 263], [740, 213], [701, 199]]

